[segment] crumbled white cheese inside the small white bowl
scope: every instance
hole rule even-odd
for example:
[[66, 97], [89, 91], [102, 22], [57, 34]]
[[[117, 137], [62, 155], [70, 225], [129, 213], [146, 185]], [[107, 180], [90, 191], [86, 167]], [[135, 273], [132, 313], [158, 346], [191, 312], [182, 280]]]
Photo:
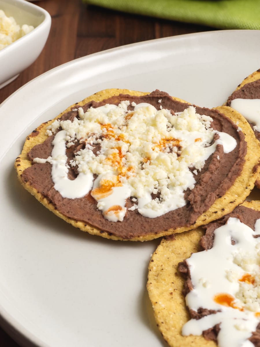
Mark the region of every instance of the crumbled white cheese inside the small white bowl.
[[20, 39], [34, 29], [32, 25], [18, 25], [13, 17], [7, 17], [3, 10], [0, 10], [0, 50]]

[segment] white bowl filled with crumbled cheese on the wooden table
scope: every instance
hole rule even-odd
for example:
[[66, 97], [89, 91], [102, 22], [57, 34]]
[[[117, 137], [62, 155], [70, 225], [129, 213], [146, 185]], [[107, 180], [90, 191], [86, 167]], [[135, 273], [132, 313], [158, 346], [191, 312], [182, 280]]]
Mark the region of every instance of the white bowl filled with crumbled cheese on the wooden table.
[[0, 0], [0, 88], [40, 55], [51, 27], [50, 14], [25, 0]]

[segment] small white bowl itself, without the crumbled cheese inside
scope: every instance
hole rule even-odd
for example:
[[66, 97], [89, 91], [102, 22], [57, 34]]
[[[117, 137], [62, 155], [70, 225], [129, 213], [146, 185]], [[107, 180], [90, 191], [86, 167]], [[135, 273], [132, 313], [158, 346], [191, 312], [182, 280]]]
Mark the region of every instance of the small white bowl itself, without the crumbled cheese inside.
[[0, 9], [16, 23], [33, 25], [34, 29], [0, 50], [0, 88], [13, 81], [40, 55], [51, 27], [50, 14], [25, 0], [0, 0]]

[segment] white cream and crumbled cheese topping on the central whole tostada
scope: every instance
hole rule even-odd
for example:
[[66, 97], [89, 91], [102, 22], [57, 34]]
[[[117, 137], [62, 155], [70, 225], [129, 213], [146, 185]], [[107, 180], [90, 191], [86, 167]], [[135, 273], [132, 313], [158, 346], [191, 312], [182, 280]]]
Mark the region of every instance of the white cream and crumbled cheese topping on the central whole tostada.
[[[71, 199], [83, 197], [92, 190], [97, 207], [110, 221], [123, 220], [127, 212], [125, 201], [130, 196], [137, 198], [138, 212], [149, 218], [184, 206], [183, 192], [195, 184], [189, 168], [201, 170], [217, 144], [223, 145], [225, 153], [236, 146], [235, 139], [226, 133], [218, 133], [219, 139], [210, 145], [217, 133], [210, 128], [211, 118], [198, 115], [192, 106], [171, 115], [169, 110], [157, 111], [147, 103], [137, 104], [134, 111], [128, 111], [128, 105], [129, 101], [123, 101], [119, 106], [107, 104], [85, 113], [79, 108], [79, 119], [56, 120], [47, 128], [49, 135], [62, 128], [54, 137], [51, 159], [48, 158], [54, 188]], [[178, 152], [178, 143], [171, 144], [167, 138], [177, 139], [181, 151]], [[70, 146], [74, 139], [85, 139], [86, 148], [70, 163], [78, 166], [79, 175], [69, 180], [66, 144]], [[101, 146], [97, 155], [92, 152], [93, 144]], [[113, 162], [111, 158], [117, 159]], [[98, 177], [93, 183], [94, 174]], [[117, 177], [118, 181], [107, 196], [101, 197], [93, 189], [106, 176], [108, 180]], [[157, 192], [160, 198], [152, 200], [151, 193]]]

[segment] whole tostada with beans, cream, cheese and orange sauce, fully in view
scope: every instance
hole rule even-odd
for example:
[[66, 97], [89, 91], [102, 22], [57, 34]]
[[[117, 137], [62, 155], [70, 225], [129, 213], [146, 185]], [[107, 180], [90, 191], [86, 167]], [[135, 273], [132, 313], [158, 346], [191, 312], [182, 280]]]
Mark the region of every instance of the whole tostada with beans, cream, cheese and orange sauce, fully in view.
[[24, 188], [73, 226], [145, 241], [231, 212], [254, 186], [258, 153], [230, 107], [108, 89], [33, 130], [15, 168]]

